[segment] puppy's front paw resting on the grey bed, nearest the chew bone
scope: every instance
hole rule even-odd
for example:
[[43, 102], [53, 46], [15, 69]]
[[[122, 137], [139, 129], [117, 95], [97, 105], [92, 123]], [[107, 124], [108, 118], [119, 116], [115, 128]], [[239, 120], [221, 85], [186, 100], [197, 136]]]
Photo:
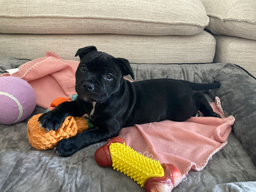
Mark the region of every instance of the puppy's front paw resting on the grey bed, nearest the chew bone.
[[78, 150], [78, 146], [71, 139], [62, 139], [55, 147], [58, 156], [71, 156]]

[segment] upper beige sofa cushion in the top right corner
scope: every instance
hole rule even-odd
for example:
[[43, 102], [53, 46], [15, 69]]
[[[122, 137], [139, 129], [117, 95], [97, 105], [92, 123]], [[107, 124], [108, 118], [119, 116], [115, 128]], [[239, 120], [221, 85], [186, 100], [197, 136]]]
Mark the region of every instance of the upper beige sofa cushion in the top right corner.
[[256, 40], [256, 0], [201, 0], [214, 34]]

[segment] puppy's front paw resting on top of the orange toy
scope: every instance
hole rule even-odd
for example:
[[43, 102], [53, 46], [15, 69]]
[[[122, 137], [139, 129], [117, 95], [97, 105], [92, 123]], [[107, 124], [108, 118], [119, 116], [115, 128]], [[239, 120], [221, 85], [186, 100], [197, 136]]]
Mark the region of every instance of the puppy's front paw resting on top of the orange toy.
[[57, 131], [64, 120], [65, 117], [63, 115], [54, 113], [54, 111], [44, 113], [38, 118], [40, 126], [45, 128], [47, 132], [51, 130]]

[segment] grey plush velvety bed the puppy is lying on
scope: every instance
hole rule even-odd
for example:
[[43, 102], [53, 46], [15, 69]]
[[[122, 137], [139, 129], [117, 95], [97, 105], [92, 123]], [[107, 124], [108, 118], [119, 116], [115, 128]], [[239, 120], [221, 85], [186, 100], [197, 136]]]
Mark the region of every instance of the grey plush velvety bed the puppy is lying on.
[[[26, 60], [0, 59], [0, 73]], [[190, 171], [173, 192], [256, 191], [256, 79], [230, 63], [132, 64], [135, 80], [184, 79], [221, 87], [209, 95], [219, 96], [223, 110], [236, 119], [228, 144], [202, 171]], [[32, 115], [44, 112], [36, 108]], [[29, 118], [28, 118], [29, 119]], [[73, 156], [59, 157], [53, 150], [37, 151], [28, 143], [26, 121], [0, 124], [0, 192], [143, 192], [132, 179], [112, 168], [101, 168], [94, 153], [102, 142]]]

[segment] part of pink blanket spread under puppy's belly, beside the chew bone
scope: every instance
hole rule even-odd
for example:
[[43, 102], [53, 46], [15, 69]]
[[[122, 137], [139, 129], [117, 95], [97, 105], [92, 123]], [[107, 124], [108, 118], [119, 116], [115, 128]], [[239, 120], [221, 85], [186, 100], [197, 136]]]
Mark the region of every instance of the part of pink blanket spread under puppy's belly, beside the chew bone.
[[234, 117], [224, 117], [219, 97], [211, 107], [222, 119], [191, 117], [183, 122], [164, 120], [129, 128], [119, 134], [135, 151], [177, 166], [183, 178], [192, 168], [202, 170], [208, 160], [227, 144]]

